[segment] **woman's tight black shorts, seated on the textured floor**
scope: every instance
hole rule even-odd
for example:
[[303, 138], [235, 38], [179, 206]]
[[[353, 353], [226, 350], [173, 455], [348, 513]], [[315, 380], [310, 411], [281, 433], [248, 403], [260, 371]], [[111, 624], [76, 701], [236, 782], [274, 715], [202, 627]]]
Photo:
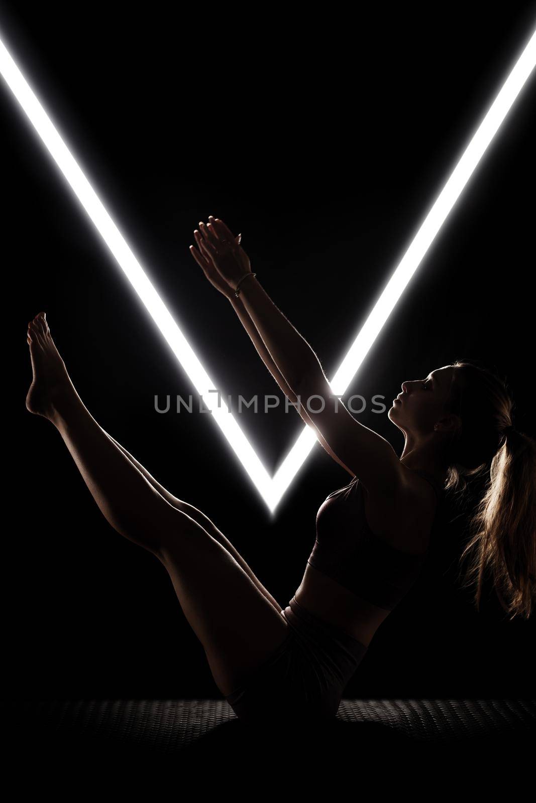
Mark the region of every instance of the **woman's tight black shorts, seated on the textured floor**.
[[295, 597], [284, 617], [284, 642], [225, 699], [245, 723], [334, 719], [367, 647], [309, 613]]

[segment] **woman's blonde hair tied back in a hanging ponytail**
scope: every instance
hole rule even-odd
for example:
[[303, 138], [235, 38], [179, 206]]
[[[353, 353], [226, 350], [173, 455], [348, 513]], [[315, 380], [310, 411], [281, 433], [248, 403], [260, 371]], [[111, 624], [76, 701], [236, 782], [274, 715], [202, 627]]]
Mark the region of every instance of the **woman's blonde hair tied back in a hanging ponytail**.
[[489, 577], [509, 619], [528, 619], [536, 598], [536, 441], [515, 429], [503, 432], [513, 426], [514, 402], [497, 373], [475, 361], [452, 366], [447, 407], [460, 426], [447, 446], [445, 490], [463, 494], [468, 479], [489, 472], [460, 556], [460, 565], [468, 564], [462, 587], [475, 586], [480, 611]]

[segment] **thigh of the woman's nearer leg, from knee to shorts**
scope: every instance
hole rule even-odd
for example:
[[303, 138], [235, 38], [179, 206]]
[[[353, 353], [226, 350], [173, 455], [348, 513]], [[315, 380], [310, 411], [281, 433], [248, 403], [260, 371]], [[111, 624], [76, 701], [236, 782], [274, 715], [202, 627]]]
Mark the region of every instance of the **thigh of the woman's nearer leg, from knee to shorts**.
[[203, 644], [216, 685], [228, 695], [280, 647], [288, 623], [205, 528], [171, 506], [166, 516], [158, 559]]

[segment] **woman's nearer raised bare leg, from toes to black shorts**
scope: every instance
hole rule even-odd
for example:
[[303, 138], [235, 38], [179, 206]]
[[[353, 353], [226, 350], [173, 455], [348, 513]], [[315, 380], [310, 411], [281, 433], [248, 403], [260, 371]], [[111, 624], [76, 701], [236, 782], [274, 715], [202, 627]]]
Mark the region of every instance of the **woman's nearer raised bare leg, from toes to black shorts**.
[[34, 379], [27, 408], [51, 421], [108, 522], [166, 567], [224, 695], [287, 636], [287, 622], [231, 553], [171, 505], [81, 401], [44, 315], [28, 327]]

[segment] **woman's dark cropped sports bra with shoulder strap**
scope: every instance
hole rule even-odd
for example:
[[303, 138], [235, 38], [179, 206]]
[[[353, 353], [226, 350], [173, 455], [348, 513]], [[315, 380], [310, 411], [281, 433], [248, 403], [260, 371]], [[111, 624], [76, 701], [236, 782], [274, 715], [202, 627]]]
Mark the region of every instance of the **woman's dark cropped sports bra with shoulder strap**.
[[[415, 471], [436, 491], [437, 511], [444, 489], [428, 472]], [[410, 555], [378, 538], [366, 521], [362, 485], [357, 477], [326, 497], [317, 512], [317, 537], [307, 561], [358, 597], [392, 610], [411, 589], [428, 552]]]

